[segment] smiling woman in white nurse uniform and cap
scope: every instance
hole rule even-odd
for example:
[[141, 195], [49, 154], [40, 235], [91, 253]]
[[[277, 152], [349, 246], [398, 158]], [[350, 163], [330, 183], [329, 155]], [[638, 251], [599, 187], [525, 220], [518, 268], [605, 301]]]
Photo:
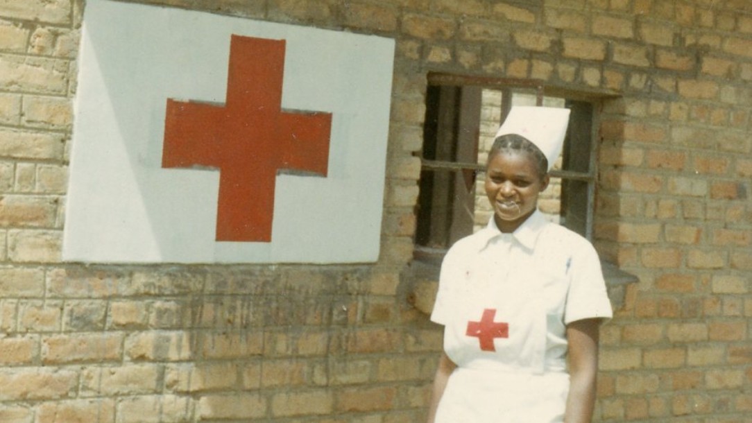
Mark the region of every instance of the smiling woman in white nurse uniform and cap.
[[537, 210], [569, 110], [513, 107], [489, 153], [487, 228], [441, 264], [429, 423], [589, 422], [611, 305], [593, 246]]

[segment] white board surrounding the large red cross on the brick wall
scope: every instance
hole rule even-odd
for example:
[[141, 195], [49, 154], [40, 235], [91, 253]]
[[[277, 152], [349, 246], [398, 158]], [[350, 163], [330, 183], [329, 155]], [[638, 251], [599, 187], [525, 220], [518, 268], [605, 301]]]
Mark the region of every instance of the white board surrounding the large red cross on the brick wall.
[[[284, 41], [280, 113], [330, 114], [326, 176], [280, 169], [270, 240], [218, 239], [221, 167], [163, 166], [168, 100], [224, 107], [236, 38]], [[63, 259], [378, 260], [393, 56], [387, 38], [88, 0]]]

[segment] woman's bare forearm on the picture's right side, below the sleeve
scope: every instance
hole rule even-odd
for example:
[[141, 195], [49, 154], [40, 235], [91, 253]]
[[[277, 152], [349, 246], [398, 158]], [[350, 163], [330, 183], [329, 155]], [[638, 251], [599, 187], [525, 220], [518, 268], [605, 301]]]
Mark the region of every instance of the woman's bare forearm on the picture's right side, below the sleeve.
[[569, 341], [569, 397], [566, 423], [590, 423], [596, 403], [598, 329], [601, 319], [584, 319], [567, 325]]

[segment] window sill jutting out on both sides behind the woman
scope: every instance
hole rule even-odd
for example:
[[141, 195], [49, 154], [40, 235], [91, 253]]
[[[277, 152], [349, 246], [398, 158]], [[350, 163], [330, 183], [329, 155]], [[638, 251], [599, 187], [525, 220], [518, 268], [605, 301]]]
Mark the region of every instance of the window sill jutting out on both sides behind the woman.
[[[601, 261], [603, 277], [606, 281], [608, 298], [614, 310], [620, 309], [624, 304], [626, 287], [637, 283], [639, 279], [631, 273], [620, 270], [615, 264]], [[408, 303], [422, 313], [431, 315], [433, 303], [438, 289], [438, 273], [441, 270], [441, 261], [436, 260], [435, 255], [417, 257], [409, 265], [402, 277], [408, 279]]]

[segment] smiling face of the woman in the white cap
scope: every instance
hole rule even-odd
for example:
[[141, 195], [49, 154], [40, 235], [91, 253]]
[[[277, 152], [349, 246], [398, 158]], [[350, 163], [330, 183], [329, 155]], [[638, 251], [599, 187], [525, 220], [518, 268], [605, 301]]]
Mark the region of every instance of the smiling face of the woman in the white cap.
[[499, 151], [486, 169], [486, 195], [502, 232], [519, 228], [538, 205], [538, 195], [548, 186], [548, 176], [538, 175], [535, 159], [524, 152]]

